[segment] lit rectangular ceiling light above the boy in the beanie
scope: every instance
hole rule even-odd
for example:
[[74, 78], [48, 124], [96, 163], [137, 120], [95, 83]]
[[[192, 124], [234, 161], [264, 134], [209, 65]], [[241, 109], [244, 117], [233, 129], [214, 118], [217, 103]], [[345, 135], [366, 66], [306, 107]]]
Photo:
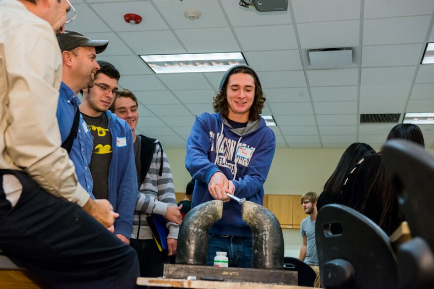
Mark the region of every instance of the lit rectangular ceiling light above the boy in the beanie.
[[247, 64], [241, 52], [139, 56], [155, 73], [218, 72]]

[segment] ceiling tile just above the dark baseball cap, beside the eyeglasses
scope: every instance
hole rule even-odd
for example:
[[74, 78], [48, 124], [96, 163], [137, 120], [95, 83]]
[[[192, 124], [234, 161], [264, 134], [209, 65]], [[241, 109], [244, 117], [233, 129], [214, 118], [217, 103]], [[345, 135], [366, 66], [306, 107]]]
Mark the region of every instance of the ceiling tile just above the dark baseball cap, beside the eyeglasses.
[[[103, 21], [97, 14], [95, 14], [87, 4], [72, 4], [79, 16], [75, 21], [65, 25], [66, 30], [78, 31], [83, 34], [89, 32], [111, 32], [111, 29], [106, 24], [107, 22]], [[85, 21], [86, 19], [92, 19], [92, 25], [88, 25], [88, 22]]]

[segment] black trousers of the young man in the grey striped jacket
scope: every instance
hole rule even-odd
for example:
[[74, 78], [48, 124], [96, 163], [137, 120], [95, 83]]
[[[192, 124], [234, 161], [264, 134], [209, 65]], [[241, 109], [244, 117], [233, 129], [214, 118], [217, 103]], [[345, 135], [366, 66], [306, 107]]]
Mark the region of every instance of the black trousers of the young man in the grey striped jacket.
[[163, 276], [164, 264], [169, 263], [166, 250], [160, 252], [153, 239], [131, 239], [130, 246], [134, 248], [139, 257], [141, 277]]

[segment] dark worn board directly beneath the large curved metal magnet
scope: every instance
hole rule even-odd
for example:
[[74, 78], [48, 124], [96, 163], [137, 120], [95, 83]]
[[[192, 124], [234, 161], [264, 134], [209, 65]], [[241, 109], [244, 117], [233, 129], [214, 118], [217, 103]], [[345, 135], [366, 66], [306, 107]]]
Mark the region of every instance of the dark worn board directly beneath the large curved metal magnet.
[[297, 285], [296, 271], [254, 269], [254, 268], [223, 268], [212, 266], [164, 264], [163, 276], [174, 279], [187, 279], [188, 276], [202, 278], [220, 278], [225, 281], [243, 281], [283, 285]]

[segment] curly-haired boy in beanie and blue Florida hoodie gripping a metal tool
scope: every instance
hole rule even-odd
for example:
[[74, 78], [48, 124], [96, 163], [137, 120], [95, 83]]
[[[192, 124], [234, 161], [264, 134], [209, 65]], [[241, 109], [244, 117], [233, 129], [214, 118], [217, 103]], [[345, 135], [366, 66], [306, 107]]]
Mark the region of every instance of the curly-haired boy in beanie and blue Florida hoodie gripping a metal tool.
[[274, 132], [260, 116], [264, 102], [256, 72], [247, 65], [232, 66], [214, 97], [216, 113], [199, 115], [188, 137], [185, 167], [196, 180], [192, 207], [224, 202], [223, 216], [208, 236], [207, 265], [223, 251], [230, 267], [252, 267], [252, 230], [241, 218], [241, 205], [226, 193], [263, 203], [276, 147]]

